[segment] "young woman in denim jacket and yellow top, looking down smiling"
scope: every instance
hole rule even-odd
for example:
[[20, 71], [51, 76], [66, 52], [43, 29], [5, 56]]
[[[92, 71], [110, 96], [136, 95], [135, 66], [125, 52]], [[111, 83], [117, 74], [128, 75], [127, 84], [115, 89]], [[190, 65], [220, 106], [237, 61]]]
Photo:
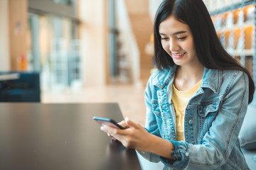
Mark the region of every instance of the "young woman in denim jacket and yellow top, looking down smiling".
[[201, 0], [164, 0], [154, 23], [156, 66], [146, 125], [101, 129], [169, 169], [249, 169], [238, 134], [255, 85], [225, 52]]

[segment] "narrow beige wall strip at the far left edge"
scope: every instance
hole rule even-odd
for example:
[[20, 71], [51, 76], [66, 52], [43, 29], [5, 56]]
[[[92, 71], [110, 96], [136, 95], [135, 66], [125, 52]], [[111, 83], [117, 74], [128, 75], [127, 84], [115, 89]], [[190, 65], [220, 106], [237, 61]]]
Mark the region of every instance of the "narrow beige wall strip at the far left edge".
[[0, 72], [9, 71], [9, 15], [8, 0], [0, 0]]

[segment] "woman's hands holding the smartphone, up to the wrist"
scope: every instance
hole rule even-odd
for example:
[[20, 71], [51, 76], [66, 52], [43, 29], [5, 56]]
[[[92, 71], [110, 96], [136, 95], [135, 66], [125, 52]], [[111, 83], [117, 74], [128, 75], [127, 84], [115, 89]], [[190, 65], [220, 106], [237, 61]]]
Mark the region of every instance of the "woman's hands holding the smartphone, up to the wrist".
[[126, 129], [120, 130], [108, 125], [103, 125], [100, 129], [106, 132], [109, 136], [114, 137], [114, 139], [119, 140], [119, 142], [122, 142], [124, 147], [143, 151], [147, 151], [150, 148], [151, 134], [141, 125], [126, 118], [122, 121], [122, 126], [126, 127]]

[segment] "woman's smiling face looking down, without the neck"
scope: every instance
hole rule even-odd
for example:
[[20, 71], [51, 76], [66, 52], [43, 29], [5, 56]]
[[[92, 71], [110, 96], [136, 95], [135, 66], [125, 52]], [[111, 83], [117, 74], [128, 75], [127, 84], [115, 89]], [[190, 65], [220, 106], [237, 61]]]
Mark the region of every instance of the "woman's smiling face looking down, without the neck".
[[198, 64], [193, 35], [185, 23], [169, 16], [159, 25], [161, 45], [179, 66]]

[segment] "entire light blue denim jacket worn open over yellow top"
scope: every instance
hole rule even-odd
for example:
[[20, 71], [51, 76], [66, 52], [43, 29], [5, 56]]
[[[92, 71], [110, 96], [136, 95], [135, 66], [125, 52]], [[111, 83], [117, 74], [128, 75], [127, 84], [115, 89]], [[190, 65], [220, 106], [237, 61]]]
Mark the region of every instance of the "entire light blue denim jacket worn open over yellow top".
[[146, 90], [146, 125], [151, 134], [174, 143], [175, 162], [140, 152], [169, 169], [249, 169], [238, 134], [248, 105], [248, 77], [240, 71], [204, 69], [201, 88], [188, 101], [184, 115], [186, 142], [176, 141], [171, 101], [176, 66], [151, 75]]

